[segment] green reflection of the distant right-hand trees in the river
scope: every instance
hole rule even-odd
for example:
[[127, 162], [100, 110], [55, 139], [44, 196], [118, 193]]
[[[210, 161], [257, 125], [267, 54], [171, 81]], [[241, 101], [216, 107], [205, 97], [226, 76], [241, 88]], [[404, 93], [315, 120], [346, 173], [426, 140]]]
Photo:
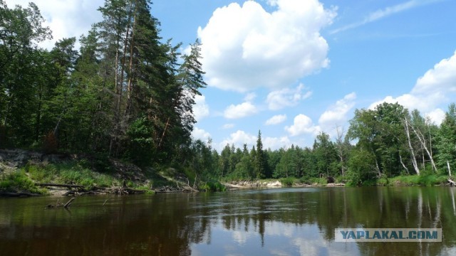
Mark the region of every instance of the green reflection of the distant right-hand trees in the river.
[[[335, 228], [442, 228], [444, 245], [452, 247], [456, 244], [454, 193], [446, 187], [240, 193], [236, 203], [225, 202], [221, 221], [227, 230], [257, 232], [266, 243], [264, 233], [270, 222], [317, 225], [329, 242]], [[362, 255], [437, 255], [442, 243], [361, 242], [358, 247]]]

